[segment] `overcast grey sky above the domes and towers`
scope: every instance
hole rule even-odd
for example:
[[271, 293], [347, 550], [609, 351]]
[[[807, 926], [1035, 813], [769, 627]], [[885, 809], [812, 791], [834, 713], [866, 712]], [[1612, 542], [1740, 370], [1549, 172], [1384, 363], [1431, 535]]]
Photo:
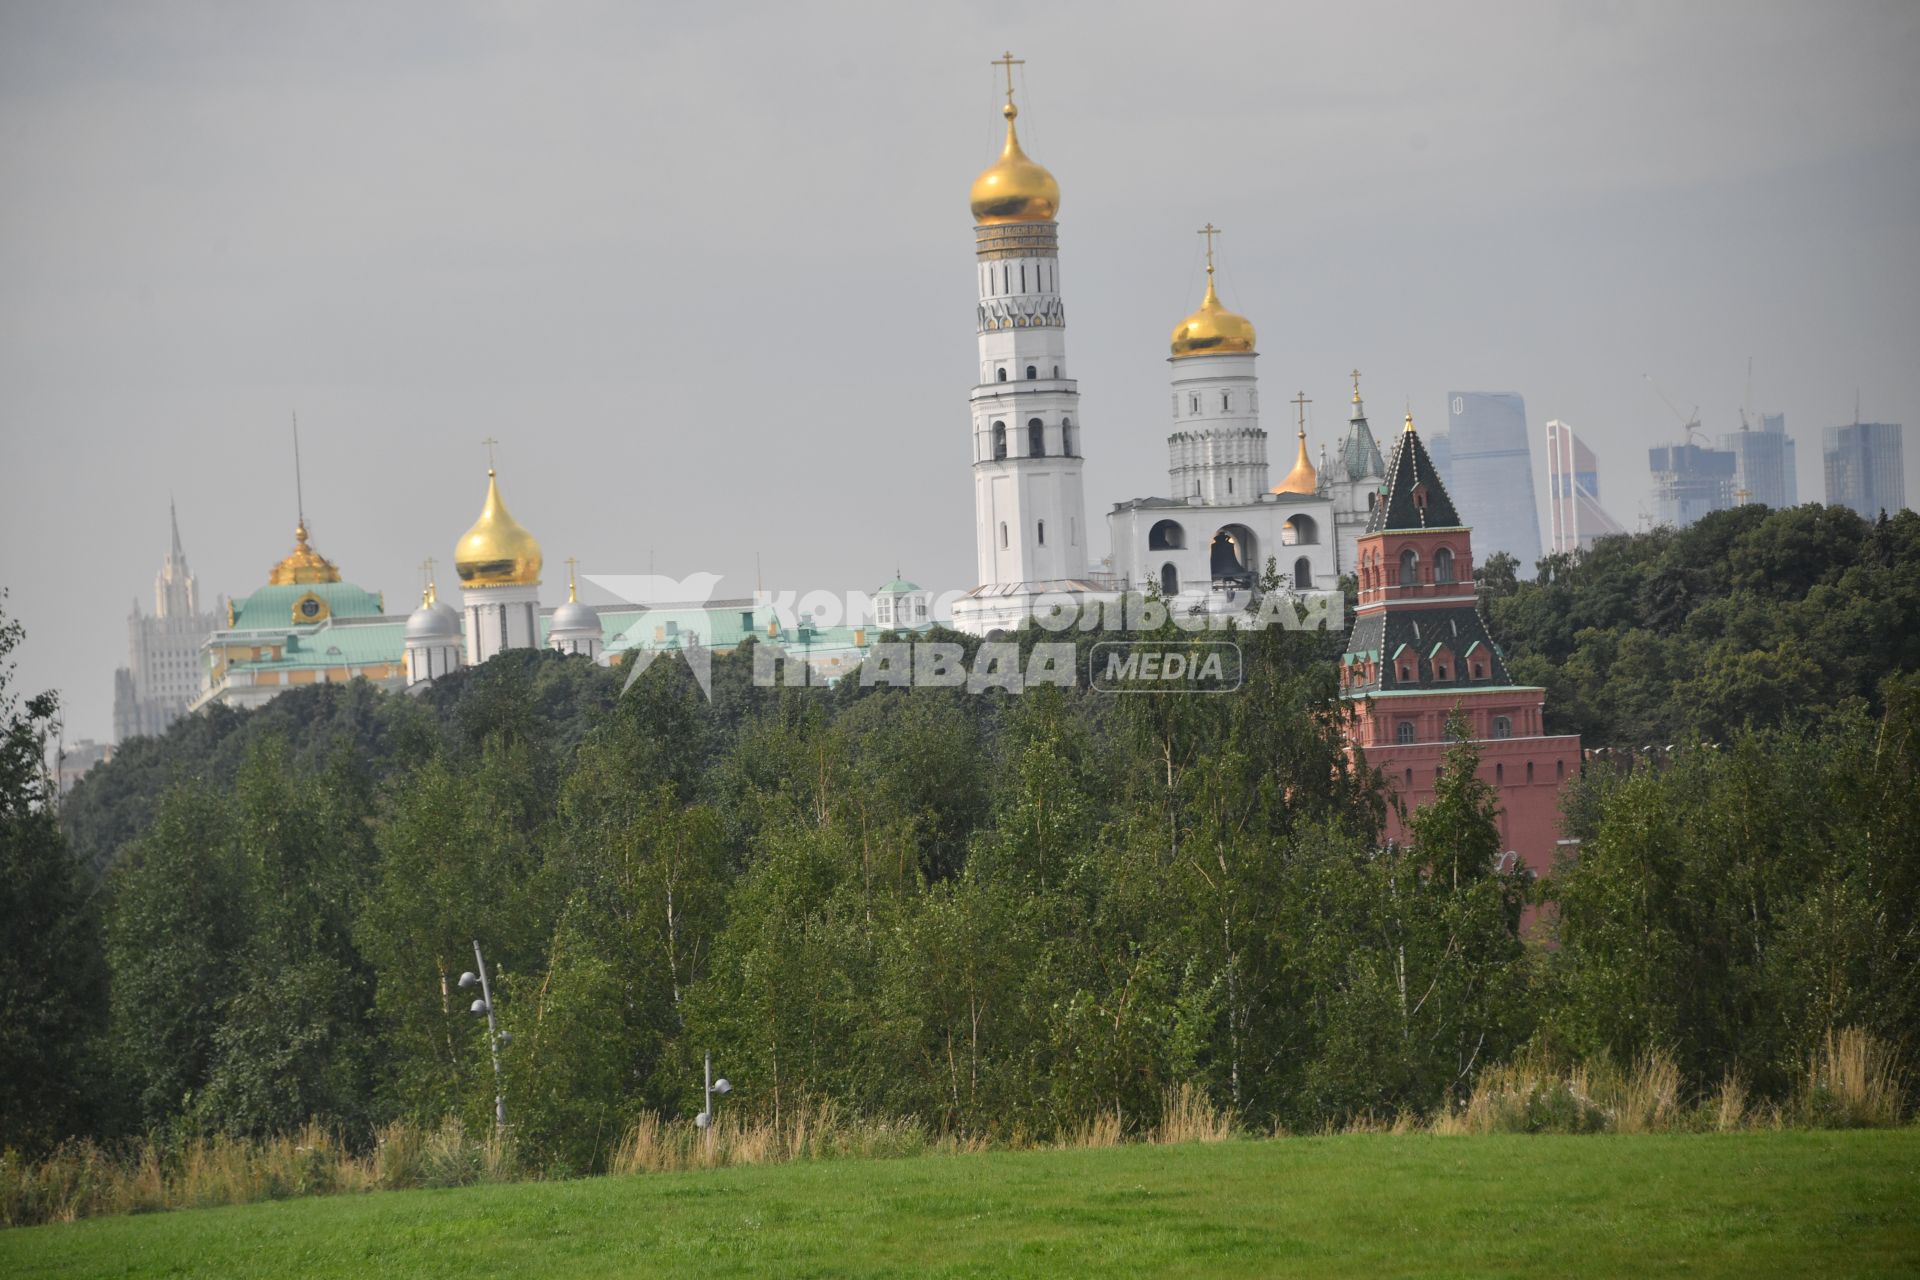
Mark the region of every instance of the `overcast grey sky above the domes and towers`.
[[[1786, 411], [1920, 455], [1920, 6], [0, 6], [0, 583], [111, 731], [167, 549], [417, 599], [501, 486], [584, 572], [972, 585], [989, 59], [1062, 184], [1089, 518], [1165, 487], [1194, 228], [1313, 439], [1524, 393], [1634, 524], [1645, 447]], [[1279, 393], [1273, 393], [1279, 391]], [[1269, 413], [1269, 428], [1284, 430]], [[1536, 482], [1544, 497], [1544, 464]], [[1284, 470], [1284, 461], [1281, 462]], [[1096, 537], [1096, 549], [1104, 535]]]

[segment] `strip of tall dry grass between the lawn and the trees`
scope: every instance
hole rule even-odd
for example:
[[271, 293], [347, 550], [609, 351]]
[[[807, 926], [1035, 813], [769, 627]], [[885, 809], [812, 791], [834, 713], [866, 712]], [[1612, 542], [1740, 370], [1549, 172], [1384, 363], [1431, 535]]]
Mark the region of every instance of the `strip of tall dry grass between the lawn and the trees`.
[[[1329, 1121], [1321, 1132], [1670, 1132], [1736, 1130], [1799, 1125], [1860, 1128], [1901, 1125], [1905, 1069], [1895, 1050], [1860, 1029], [1824, 1036], [1809, 1057], [1791, 1098], [1755, 1100], [1740, 1071], [1730, 1071], [1703, 1098], [1682, 1096], [1670, 1054], [1642, 1054], [1626, 1069], [1601, 1057], [1555, 1063], [1523, 1055], [1484, 1069], [1471, 1094], [1432, 1117], [1400, 1111]], [[1162, 1096], [1160, 1119], [1139, 1128], [1144, 1142], [1225, 1142], [1242, 1132], [1231, 1107], [1217, 1107], [1204, 1088], [1181, 1084]], [[1275, 1128], [1275, 1138], [1284, 1130]], [[1112, 1148], [1127, 1142], [1119, 1111], [1071, 1119], [1052, 1146]], [[806, 1159], [897, 1157], [929, 1151], [1031, 1148], [1044, 1138], [1025, 1130], [993, 1140], [931, 1132], [918, 1119], [849, 1115], [833, 1103], [789, 1109], [781, 1121], [722, 1111], [710, 1130], [691, 1121], [645, 1113], [609, 1153], [612, 1174], [674, 1173], [726, 1165], [770, 1165]], [[108, 1213], [154, 1213], [200, 1205], [242, 1205], [286, 1196], [417, 1186], [467, 1186], [540, 1176], [515, 1159], [511, 1142], [472, 1134], [457, 1119], [436, 1126], [394, 1123], [367, 1151], [348, 1150], [319, 1125], [284, 1138], [154, 1138], [123, 1148], [69, 1142], [42, 1159], [0, 1155], [0, 1226], [71, 1222]]]

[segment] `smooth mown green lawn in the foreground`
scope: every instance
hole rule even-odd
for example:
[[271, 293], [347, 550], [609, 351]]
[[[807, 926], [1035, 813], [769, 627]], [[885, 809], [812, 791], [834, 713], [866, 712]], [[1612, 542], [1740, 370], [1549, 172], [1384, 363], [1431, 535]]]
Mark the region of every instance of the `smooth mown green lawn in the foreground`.
[[824, 1161], [0, 1232], [4, 1276], [1914, 1276], [1920, 1130]]

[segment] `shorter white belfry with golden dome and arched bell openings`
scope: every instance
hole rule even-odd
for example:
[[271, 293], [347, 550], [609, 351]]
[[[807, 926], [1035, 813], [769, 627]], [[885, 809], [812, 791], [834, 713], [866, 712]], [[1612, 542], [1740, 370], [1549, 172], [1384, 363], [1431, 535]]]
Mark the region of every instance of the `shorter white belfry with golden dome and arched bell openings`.
[[1156, 591], [1177, 610], [1242, 612], [1267, 568], [1296, 595], [1338, 589], [1332, 499], [1308, 459], [1306, 395], [1298, 455], [1267, 487], [1254, 324], [1227, 311], [1213, 284], [1210, 223], [1206, 296], [1173, 330], [1169, 497], [1137, 497], [1108, 512], [1114, 572], [1129, 591]]

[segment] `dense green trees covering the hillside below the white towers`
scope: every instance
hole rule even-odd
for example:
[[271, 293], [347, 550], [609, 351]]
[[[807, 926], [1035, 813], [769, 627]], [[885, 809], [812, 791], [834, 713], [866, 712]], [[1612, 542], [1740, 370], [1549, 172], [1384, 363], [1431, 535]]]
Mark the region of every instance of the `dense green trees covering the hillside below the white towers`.
[[[1325, 637], [1286, 631], [1242, 637], [1235, 697], [756, 689], [743, 651], [708, 702], [678, 662], [622, 695], [513, 652], [196, 718], [58, 823], [54, 708], [6, 693], [0, 1146], [484, 1126], [474, 938], [553, 1171], [695, 1111], [707, 1050], [749, 1113], [1044, 1136], [1179, 1084], [1298, 1128], [1521, 1054], [1784, 1096], [1834, 1029], [1916, 1048], [1920, 520], [1741, 509], [1500, 570], [1553, 727], [1674, 745], [1590, 764], [1540, 883], [1496, 867], [1469, 745], [1382, 846]], [[1542, 898], [1557, 946], [1521, 935]]]

